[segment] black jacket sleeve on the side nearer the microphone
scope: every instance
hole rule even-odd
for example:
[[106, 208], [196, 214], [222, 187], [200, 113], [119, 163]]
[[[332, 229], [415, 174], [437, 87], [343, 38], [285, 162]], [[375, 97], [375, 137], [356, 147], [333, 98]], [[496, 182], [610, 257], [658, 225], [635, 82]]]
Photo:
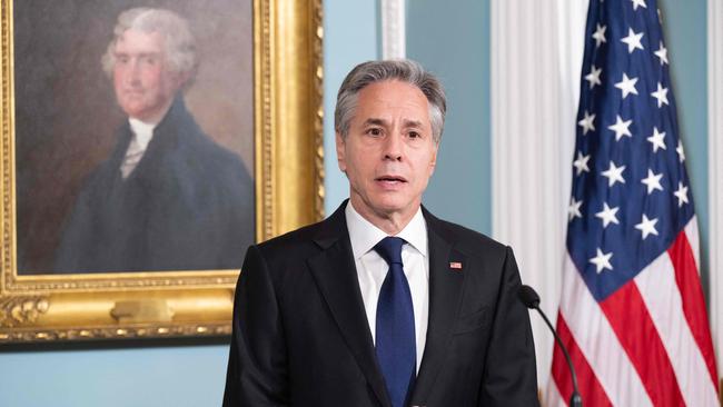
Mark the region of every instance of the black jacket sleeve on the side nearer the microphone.
[[502, 272], [479, 406], [539, 406], [529, 314], [517, 298], [522, 282], [511, 248]]

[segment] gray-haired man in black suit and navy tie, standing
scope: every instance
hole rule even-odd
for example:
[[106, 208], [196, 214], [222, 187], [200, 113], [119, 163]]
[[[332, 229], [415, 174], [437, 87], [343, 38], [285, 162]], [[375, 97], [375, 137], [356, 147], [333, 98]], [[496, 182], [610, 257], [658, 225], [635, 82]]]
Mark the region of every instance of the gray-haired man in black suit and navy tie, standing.
[[512, 250], [422, 207], [445, 110], [415, 62], [347, 76], [335, 127], [349, 200], [248, 249], [224, 406], [537, 405]]

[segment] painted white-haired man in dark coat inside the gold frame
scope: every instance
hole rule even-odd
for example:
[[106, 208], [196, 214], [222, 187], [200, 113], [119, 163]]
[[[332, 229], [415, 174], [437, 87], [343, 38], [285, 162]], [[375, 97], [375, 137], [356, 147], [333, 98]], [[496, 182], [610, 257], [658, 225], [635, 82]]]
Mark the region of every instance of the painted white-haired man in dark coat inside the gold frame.
[[186, 109], [198, 61], [176, 13], [122, 12], [102, 67], [128, 120], [67, 219], [57, 272], [239, 269], [254, 186], [238, 156]]

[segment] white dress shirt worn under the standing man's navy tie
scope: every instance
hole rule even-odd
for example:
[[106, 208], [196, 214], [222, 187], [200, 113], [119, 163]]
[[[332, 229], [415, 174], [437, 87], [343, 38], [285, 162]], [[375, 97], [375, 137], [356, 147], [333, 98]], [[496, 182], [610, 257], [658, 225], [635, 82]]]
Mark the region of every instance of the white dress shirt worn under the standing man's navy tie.
[[[387, 262], [374, 250], [374, 246], [388, 235], [364, 219], [349, 201], [345, 209], [346, 225], [349, 229], [351, 251], [356, 264], [361, 299], [376, 344], [377, 301], [382, 284], [389, 270]], [[424, 355], [427, 339], [427, 317], [429, 312], [429, 255], [427, 248], [427, 224], [422, 215], [422, 208], [409, 224], [398, 234], [408, 245], [402, 247], [404, 275], [412, 292], [414, 307], [414, 335], [417, 345], [417, 373]]]

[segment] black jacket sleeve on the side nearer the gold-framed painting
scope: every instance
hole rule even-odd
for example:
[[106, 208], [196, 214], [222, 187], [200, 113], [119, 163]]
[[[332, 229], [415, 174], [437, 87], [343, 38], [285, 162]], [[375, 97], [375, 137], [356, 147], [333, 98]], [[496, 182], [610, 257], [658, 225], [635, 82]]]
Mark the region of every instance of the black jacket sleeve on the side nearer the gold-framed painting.
[[268, 265], [249, 247], [236, 288], [224, 407], [288, 405], [287, 353]]

